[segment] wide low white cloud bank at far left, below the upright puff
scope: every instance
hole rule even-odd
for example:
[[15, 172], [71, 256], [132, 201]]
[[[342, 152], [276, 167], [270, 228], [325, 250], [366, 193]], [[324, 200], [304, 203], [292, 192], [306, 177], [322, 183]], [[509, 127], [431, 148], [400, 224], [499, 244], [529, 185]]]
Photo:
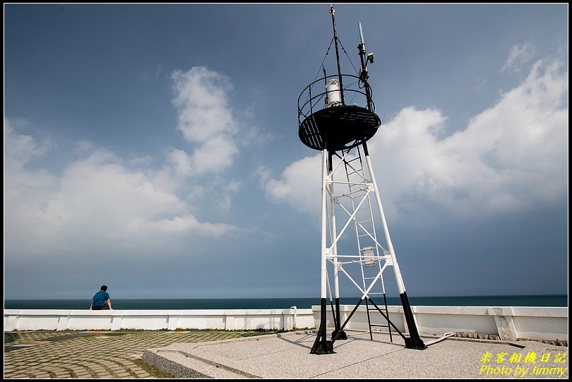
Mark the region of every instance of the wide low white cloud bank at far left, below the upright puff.
[[[173, 240], [239, 231], [193, 215], [196, 206], [177, 193], [183, 188], [178, 173], [184, 171], [182, 161], [172, 159], [177, 155], [154, 170], [145, 167], [149, 158], [132, 167], [109, 150], [95, 149], [52, 174], [27, 168], [47, 149], [13, 131], [6, 119], [4, 141], [4, 245], [12, 258], [104, 247], [116, 254], [125, 248], [143, 253], [165, 249]], [[93, 148], [86, 142], [78, 146]]]

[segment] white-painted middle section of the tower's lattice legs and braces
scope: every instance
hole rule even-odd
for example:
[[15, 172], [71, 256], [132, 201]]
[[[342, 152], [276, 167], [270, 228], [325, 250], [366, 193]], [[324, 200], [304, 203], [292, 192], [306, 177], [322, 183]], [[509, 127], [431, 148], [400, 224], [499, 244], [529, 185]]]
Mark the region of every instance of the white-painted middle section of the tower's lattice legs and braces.
[[[329, 290], [330, 301], [332, 299], [332, 291], [330, 280], [328, 279], [328, 266], [333, 268], [335, 298], [340, 297], [338, 280], [340, 272], [346, 275], [350, 282], [362, 293], [362, 299], [367, 299], [371, 294], [375, 293], [371, 292], [371, 290], [378, 280], [381, 281], [381, 292], [377, 292], [377, 294], [385, 293], [383, 271], [386, 270], [388, 266], [393, 266], [393, 273], [399, 293], [403, 294], [405, 292], [405, 285], [403, 284], [399, 265], [395, 259], [395, 251], [391, 243], [386, 217], [383, 213], [381, 197], [379, 196], [379, 189], [371, 167], [371, 160], [369, 155], [364, 153], [365, 166], [363, 162], [359, 166], [352, 165], [352, 161], [360, 156], [358, 152], [357, 156], [352, 158], [352, 153], [355, 153], [355, 150], [359, 150], [359, 148], [344, 151], [342, 155], [333, 153], [331, 157], [336, 157], [338, 160], [332, 164], [328, 163], [328, 159], [330, 158], [328, 150], [322, 151], [321, 297], [325, 299], [326, 291]], [[331, 171], [329, 171], [330, 167], [332, 168]], [[343, 180], [336, 180], [340, 179], [340, 177], [335, 177], [337, 173], [343, 173], [343, 177], [341, 177]], [[343, 192], [348, 189], [349, 192]], [[375, 203], [371, 201], [372, 196]], [[349, 201], [349, 206], [345, 206], [344, 203], [342, 203], [343, 199]], [[381, 245], [376, 235], [373, 204], [377, 205], [378, 217], [383, 227], [387, 249]], [[364, 208], [364, 205], [366, 208]], [[357, 214], [362, 208], [365, 210], [369, 208], [371, 227], [365, 227], [364, 222], [359, 221], [357, 218]], [[338, 244], [342, 239], [350, 236], [352, 230], [348, 230], [348, 228], [352, 223], [354, 223], [354, 234], [355, 237], [357, 237], [358, 251], [355, 254], [338, 253]], [[362, 248], [360, 235], [368, 239], [373, 249], [371, 254], [367, 254], [365, 248]], [[370, 265], [371, 263], [377, 265], [376, 275], [374, 277], [366, 277], [364, 274], [364, 265]], [[361, 286], [354, 280], [355, 277], [352, 277], [350, 272], [344, 268], [345, 266], [356, 264], [362, 268]]]

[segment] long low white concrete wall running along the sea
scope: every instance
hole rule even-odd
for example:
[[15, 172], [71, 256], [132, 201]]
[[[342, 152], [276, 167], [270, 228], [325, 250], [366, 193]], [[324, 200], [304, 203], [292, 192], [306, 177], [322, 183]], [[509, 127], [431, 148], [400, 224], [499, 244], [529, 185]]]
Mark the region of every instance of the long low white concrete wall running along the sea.
[[[342, 320], [354, 306], [340, 306]], [[388, 306], [391, 320], [406, 332], [401, 306]], [[568, 340], [568, 308], [494, 306], [412, 306], [420, 334], [447, 332], [499, 335], [502, 340], [530, 338]], [[286, 329], [316, 328], [320, 307], [312, 309], [233, 310], [4, 310], [4, 331], [12, 330], [119, 330], [145, 329]], [[385, 323], [381, 314], [371, 313], [372, 323]], [[333, 327], [328, 307], [328, 326]], [[360, 306], [348, 330], [368, 330], [367, 311]], [[387, 330], [383, 328], [383, 330]]]

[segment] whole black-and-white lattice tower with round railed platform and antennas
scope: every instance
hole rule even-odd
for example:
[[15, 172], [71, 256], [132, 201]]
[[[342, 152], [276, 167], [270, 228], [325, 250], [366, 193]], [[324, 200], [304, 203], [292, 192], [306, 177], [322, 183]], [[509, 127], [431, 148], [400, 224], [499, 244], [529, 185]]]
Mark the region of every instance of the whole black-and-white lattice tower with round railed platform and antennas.
[[[364, 302], [367, 305], [370, 335], [371, 326], [374, 325], [371, 324], [369, 311], [375, 310], [385, 318], [387, 322], [385, 326], [390, 330], [390, 335], [393, 328], [404, 338], [405, 347], [424, 349], [426, 346], [419, 338], [403, 277], [395, 258], [395, 250], [391, 243], [367, 148], [367, 141], [381, 126], [381, 120], [375, 114], [368, 83], [367, 64], [373, 62], [373, 55], [366, 53], [360, 24], [361, 43], [358, 49], [361, 70], [358, 76], [342, 74], [333, 7], [330, 8], [330, 13], [338, 73], [326, 76], [326, 69], [323, 68], [323, 78], [308, 85], [298, 98], [300, 141], [322, 153], [321, 320], [311, 353], [333, 353], [334, 342], [347, 338], [343, 329]], [[350, 85], [344, 86], [344, 82]], [[348, 97], [352, 105], [346, 105], [345, 100]], [[377, 233], [378, 222], [381, 222], [383, 235]], [[357, 244], [357, 249], [350, 253], [342, 253], [341, 250], [346, 237], [353, 237], [353, 242]], [[388, 268], [393, 268], [407, 323], [408, 337], [393, 325], [388, 315], [383, 282], [383, 272]], [[343, 323], [340, 318], [340, 274], [346, 276], [361, 294], [359, 301]], [[331, 292], [332, 280], [334, 293]], [[330, 340], [326, 333], [328, 290], [335, 326]], [[380, 308], [381, 296], [383, 296], [383, 306]], [[377, 303], [374, 297], [378, 297]]]

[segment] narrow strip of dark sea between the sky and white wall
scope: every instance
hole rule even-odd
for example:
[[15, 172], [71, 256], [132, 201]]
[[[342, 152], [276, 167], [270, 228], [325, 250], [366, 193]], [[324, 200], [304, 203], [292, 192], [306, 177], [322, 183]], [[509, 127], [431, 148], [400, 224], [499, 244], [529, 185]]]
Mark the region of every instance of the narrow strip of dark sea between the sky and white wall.
[[[340, 304], [355, 305], [359, 297], [342, 298]], [[379, 304], [376, 301], [376, 304]], [[383, 304], [383, 299], [380, 301]], [[409, 297], [411, 305], [429, 306], [568, 306], [566, 294], [535, 294], [524, 296], [451, 296]], [[329, 303], [329, 300], [328, 300]], [[11, 299], [4, 300], [4, 309], [89, 309], [91, 299]], [[319, 298], [292, 297], [280, 299], [114, 299], [117, 310], [136, 309], [298, 309], [319, 305]], [[388, 297], [388, 305], [401, 305], [399, 297]]]

